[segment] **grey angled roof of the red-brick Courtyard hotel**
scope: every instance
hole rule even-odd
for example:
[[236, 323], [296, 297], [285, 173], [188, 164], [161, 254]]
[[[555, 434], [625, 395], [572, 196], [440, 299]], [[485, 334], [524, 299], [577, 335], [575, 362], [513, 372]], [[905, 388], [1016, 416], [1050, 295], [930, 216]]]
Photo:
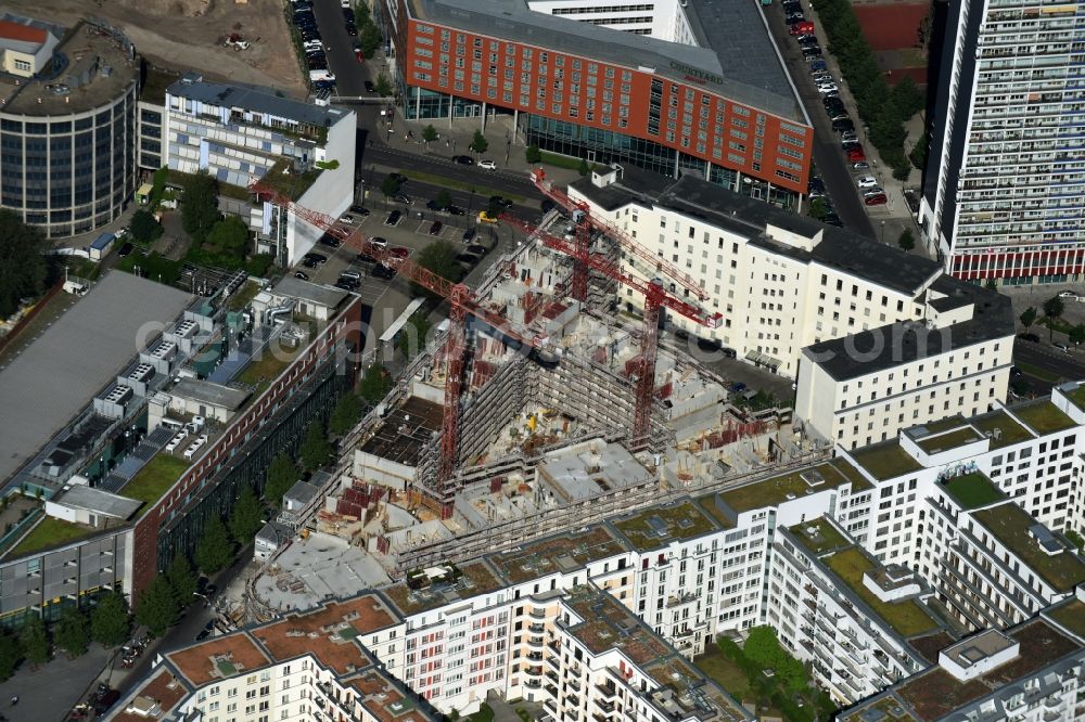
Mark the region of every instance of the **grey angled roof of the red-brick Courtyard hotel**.
[[[704, 47], [580, 23], [528, 9], [525, 0], [409, 0], [410, 15], [478, 35], [535, 44], [688, 83], [808, 125], [768, 27], [742, 0], [692, 0], [685, 8]], [[700, 81], [703, 80], [703, 83]]]

